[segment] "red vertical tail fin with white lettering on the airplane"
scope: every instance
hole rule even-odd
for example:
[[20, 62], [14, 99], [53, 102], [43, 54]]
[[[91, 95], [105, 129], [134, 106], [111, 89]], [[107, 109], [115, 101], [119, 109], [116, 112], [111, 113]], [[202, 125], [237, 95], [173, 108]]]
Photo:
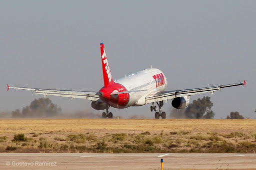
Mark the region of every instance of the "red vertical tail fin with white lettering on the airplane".
[[101, 53], [104, 87], [106, 87], [109, 84], [113, 83], [113, 79], [112, 79], [109, 64], [108, 64], [108, 61], [107, 61], [105, 47], [104, 47], [103, 42], [100, 43], [100, 53]]

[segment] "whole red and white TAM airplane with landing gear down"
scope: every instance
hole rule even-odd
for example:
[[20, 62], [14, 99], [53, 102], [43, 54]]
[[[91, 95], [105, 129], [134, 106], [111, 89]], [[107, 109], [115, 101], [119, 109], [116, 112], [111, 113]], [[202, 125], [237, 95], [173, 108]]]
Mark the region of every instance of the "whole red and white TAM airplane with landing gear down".
[[[123, 109], [131, 106], [142, 106], [151, 103], [150, 111], [155, 112], [155, 119], [166, 118], [165, 112], [161, 108], [163, 103], [171, 100], [171, 105], [176, 109], [183, 109], [188, 106], [191, 95], [210, 92], [213, 94], [221, 88], [244, 85], [241, 83], [218, 85], [203, 88], [164, 91], [167, 87], [167, 79], [163, 72], [156, 68], [144, 69], [134, 74], [122, 77], [113, 81], [109, 63], [106, 57], [105, 47], [100, 43], [101, 64], [103, 72], [104, 86], [98, 92], [90, 91], [72, 91], [72, 90], [52, 90], [28, 87], [10, 87], [20, 90], [32, 90], [35, 94], [42, 94], [45, 98], [47, 95], [69, 97], [91, 100], [91, 107], [95, 110], [106, 110], [102, 113], [102, 118], [113, 118], [113, 114], [108, 112], [109, 107]], [[158, 106], [158, 111], [154, 103]]]

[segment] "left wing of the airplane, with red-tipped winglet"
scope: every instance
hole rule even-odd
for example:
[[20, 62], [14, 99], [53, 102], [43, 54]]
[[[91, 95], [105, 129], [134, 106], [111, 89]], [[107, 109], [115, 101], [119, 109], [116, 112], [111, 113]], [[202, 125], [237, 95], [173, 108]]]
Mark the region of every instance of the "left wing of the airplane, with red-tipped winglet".
[[52, 90], [52, 89], [38, 89], [38, 88], [28, 88], [28, 87], [10, 87], [7, 85], [7, 91], [11, 89], [19, 89], [19, 90], [31, 90], [34, 91], [35, 94], [42, 94], [43, 97], [47, 95], [51, 96], [61, 96], [61, 97], [70, 97], [78, 99], [88, 99], [96, 101], [99, 99], [98, 92], [86, 92], [86, 91], [71, 91], [71, 90]]

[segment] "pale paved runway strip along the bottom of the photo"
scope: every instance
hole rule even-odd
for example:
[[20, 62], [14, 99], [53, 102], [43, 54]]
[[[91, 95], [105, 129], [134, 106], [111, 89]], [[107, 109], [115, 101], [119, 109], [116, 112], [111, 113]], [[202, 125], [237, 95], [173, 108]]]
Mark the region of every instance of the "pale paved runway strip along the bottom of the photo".
[[256, 154], [1, 153], [0, 170], [255, 170]]

